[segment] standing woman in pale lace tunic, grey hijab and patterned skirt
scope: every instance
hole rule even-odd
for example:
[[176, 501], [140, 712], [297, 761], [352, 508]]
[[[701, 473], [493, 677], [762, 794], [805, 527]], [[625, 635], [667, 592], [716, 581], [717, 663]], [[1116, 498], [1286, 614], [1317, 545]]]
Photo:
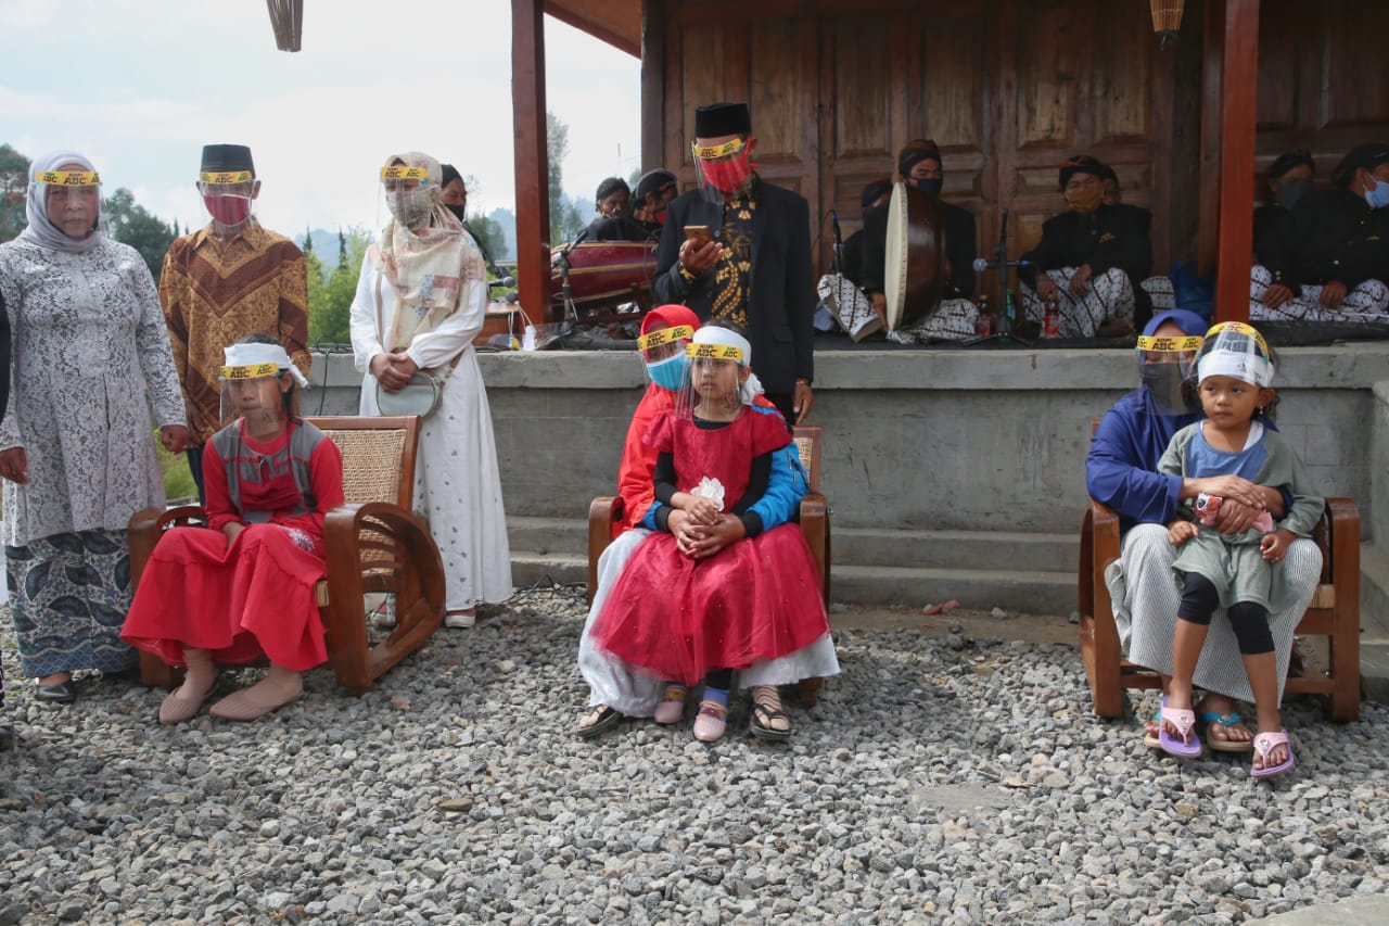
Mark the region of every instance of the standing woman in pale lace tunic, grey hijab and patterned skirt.
[[164, 505], [154, 455], [188, 442], [154, 279], [97, 228], [100, 178], [76, 152], [35, 159], [28, 227], [0, 245], [14, 334], [0, 424], [6, 580], [19, 665], [43, 701], [74, 699], [72, 672], [125, 672], [131, 603], [125, 526]]

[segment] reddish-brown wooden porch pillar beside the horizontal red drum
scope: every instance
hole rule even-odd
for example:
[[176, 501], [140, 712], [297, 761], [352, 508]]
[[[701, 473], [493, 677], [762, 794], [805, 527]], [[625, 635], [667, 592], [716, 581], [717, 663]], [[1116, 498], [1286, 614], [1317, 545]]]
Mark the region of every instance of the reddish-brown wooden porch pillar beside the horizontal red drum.
[[531, 321], [550, 318], [550, 164], [544, 121], [544, 0], [511, 0], [517, 284]]

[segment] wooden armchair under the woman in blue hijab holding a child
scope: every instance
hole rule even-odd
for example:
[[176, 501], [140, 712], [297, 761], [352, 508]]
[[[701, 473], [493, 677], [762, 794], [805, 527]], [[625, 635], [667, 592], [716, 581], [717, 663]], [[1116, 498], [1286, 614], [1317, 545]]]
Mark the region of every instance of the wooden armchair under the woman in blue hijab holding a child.
[[[1096, 424], [1099, 424], [1096, 421]], [[1360, 717], [1360, 512], [1349, 498], [1328, 498], [1313, 534], [1321, 548], [1321, 584], [1297, 624], [1297, 635], [1324, 635], [1329, 669], [1324, 677], [1289, 679], [1285, 691], [1326, 698], [1326, 713], [1345, 723]], [[1120, 652], [1118, 627], [1106, 567], [1120, 558], [1120, 516], [1090, 501], [1081, 519], [1078, 612], [1081, 655], [1090, 701], [1101, 717], [1124, 715], [1125, 688], [1161, 688], [1156, 672]]]

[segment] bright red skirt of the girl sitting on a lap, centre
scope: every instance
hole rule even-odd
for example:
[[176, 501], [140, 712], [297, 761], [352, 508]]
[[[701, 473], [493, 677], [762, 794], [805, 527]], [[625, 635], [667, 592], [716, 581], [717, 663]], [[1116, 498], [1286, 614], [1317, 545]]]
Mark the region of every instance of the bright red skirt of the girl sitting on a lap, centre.
[[795, 524], [692, 560], [669, 534], [643, 542], [599, 615], [594, 641], [656, 679], [694, 684], [829, 633], [820, 570]]

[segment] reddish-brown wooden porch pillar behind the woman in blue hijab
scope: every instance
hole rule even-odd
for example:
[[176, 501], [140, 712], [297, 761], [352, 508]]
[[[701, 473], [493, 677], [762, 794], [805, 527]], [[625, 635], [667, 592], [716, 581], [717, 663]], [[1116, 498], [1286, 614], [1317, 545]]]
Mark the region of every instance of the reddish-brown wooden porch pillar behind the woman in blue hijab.
[[1254, 252], [1258, 0], [1225, 0], [1224, 26], [1214, 317], [1217, 321], [1249, 321], [1249, 270]]

